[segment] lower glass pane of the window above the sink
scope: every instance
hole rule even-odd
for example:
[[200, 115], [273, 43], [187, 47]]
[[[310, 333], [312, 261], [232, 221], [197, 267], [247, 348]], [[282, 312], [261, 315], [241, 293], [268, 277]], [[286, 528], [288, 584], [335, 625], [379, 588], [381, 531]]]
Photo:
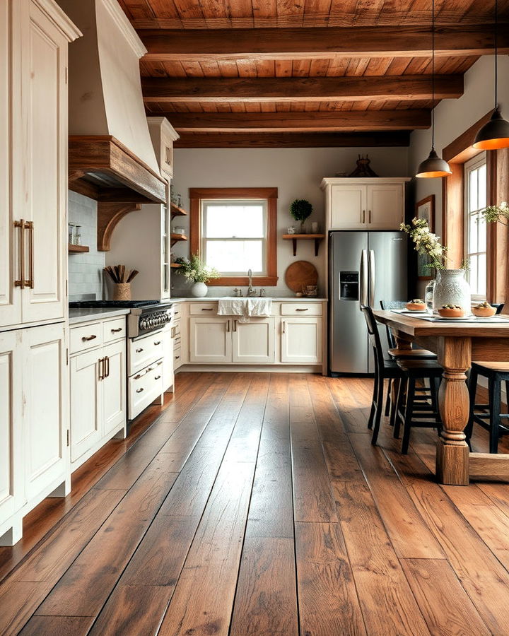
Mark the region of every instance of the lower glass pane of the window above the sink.
[[263, 241], [206, 241], [206, 264], [221, 273], [263, 271]]

